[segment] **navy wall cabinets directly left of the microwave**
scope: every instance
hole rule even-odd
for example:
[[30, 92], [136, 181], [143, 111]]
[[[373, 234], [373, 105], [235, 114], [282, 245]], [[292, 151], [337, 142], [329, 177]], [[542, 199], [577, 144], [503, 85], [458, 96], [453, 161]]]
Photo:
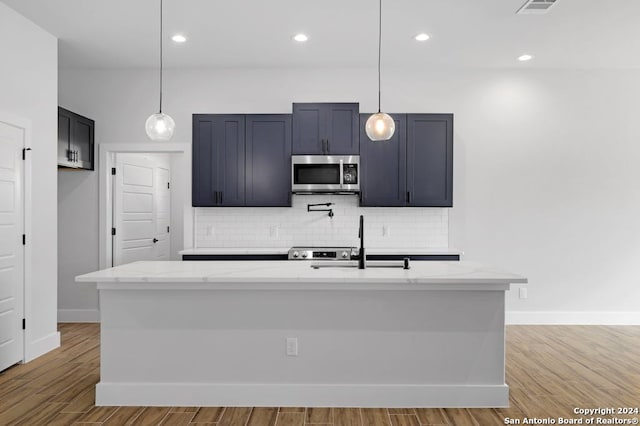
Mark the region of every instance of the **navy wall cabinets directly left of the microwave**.
[[290, 206], [291, 115], [193, 115], [194, 207]]

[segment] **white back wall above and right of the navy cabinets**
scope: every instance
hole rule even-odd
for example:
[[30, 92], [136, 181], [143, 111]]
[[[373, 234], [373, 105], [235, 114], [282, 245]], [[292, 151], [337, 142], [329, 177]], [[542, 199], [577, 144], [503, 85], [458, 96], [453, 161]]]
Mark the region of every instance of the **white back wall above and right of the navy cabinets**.
[[[528, 299], [508, 297], [511, 320], [640, 323], [636, 71], [387, 69], [383, 91], [389, 112], [455, 114], [450, 246], [529, 277]], [[61, 70], [61, 104], [95, 118], [101, 143], [145, 140], [156, 92], [153, 70]], [[376, 94], [370, 69], [168, 70], [164, 110], [189, 142], [192, 113], [364, 112]]]

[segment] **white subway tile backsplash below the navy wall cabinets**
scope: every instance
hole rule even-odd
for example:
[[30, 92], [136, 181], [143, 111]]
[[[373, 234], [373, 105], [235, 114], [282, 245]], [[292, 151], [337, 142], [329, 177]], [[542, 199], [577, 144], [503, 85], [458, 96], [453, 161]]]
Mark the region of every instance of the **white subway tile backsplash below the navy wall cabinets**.
[[[356, 246], [361, 214], [367, 247], [449, 246], [446, 208], [358, 207], [355, 195], [294, 195], [292, 201], [291, 208], [198, 207], [195, 247]], [[335, 203], [332, 218], [326, 212], [307, 212], [309, 203], [328, 202]]]

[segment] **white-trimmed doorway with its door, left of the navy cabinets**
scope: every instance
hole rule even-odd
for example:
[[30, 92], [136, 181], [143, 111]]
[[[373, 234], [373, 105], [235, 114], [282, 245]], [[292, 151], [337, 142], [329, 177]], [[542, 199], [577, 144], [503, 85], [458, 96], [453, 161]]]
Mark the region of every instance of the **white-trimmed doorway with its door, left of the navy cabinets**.
[[100, 269], [179, 260], [192, 238], [184, 233], [193, 221], [191, 144], [100, 144], [98, 150]]

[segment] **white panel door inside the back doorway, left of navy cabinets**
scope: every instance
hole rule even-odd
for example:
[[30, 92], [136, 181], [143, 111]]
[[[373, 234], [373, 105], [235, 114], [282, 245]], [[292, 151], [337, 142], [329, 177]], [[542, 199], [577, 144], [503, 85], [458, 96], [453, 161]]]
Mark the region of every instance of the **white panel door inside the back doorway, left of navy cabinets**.
[[144, 154], [116, 154], [115, 163], [113, 265], [169, 260], [168, 166]]

